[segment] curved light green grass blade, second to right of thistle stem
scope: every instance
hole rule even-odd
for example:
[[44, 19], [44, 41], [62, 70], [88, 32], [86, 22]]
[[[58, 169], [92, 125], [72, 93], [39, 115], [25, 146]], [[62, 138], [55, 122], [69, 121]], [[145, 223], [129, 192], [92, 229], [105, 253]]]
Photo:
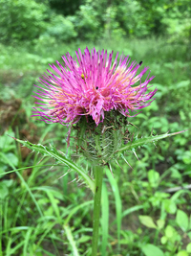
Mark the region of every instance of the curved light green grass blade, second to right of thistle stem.
[[117, 248], [118, 251], [120, 249], [120, 228], [121, 228], [121, 221], [122, 221], [122, 203], [121, 198], [119, 195], [117, 180], [113, 177], [111, 172], [109, 170], [106, 171], [106, 175], [108, 176], [108, 179], [110, 181], [110, 184], [112, 186], [112, 190], [114, 192], [115, 200], [116, 200], [116, 213], [117, 213]]

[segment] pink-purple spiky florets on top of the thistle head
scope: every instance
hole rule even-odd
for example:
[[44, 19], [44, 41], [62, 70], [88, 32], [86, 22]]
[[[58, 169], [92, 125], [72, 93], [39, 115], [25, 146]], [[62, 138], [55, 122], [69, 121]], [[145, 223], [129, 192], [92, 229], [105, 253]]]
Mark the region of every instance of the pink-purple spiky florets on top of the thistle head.
[[[96, 51], [88, 48], [84, 54], [78, 49], [76, 58], [69, 53], [63, 56], [64, 65], [56, 61], [50, 64], [54, 74], [43, 76], [39, 81], [43, 87], [36, 92], [36, 99], [42, 101], [39, 109], [34, 108], [33, 116], [39, 116], [46, 123], [75, 124], [80, 118], [92, 116], [96, 126], [103, 122], [104, 112], [117, 110], [124, 116], [150, 105], [155, 99], [157, 89], [147, 91], [148, 83], [154, 77], [141, 81], [148, 67], [139, 74], [138, 64], [125, 56], [117, 57], [112, 64], [113, 52]], [[129, 66], [128, 66], [129, 65]], [[88, 119], [87, 119], [88, 120]]]

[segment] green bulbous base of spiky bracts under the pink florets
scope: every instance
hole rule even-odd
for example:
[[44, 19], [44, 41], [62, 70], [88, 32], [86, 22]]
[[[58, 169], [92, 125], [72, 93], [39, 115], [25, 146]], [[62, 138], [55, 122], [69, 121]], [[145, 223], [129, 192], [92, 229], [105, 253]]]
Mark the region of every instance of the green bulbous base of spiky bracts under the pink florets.
[[102, 124], [96, 126], [92, 117], [82, 117], [74, 126], [76, 153], [80, 151], [94, 165], [105, 165], [117, 157], [117, 150], [129, 143], [131, 123], [117, 111], [106, 112]]

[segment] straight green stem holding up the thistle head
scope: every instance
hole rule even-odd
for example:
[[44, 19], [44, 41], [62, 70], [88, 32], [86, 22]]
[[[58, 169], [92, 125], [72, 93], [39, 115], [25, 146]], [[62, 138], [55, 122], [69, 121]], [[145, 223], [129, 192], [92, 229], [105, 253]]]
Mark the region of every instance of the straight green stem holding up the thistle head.
[[100, 207], [101, 207], [101, 189], [103, 180], [103, 167], [95, 167], [95, 177], [96, 177], [96, 190], [94, 198], [94, 219], [93, 219], [93, 250], [92, 256], [96, 256], [97, 244], [98, 244], [98, 228], [99, 228], [99, 217], [100, 217]]

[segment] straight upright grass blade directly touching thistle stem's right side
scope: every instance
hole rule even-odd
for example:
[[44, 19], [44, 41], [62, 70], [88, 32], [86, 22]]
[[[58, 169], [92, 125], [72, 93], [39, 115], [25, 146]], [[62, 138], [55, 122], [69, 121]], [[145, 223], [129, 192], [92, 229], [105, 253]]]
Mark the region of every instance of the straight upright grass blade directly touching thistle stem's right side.
[[109, 232], [109, 198], [105, 182], [102, 185], [102, 204], [101, 204], [101, 226], [102, 226], [102, 246], [101, 255], [107, 254], [108, 232]]

